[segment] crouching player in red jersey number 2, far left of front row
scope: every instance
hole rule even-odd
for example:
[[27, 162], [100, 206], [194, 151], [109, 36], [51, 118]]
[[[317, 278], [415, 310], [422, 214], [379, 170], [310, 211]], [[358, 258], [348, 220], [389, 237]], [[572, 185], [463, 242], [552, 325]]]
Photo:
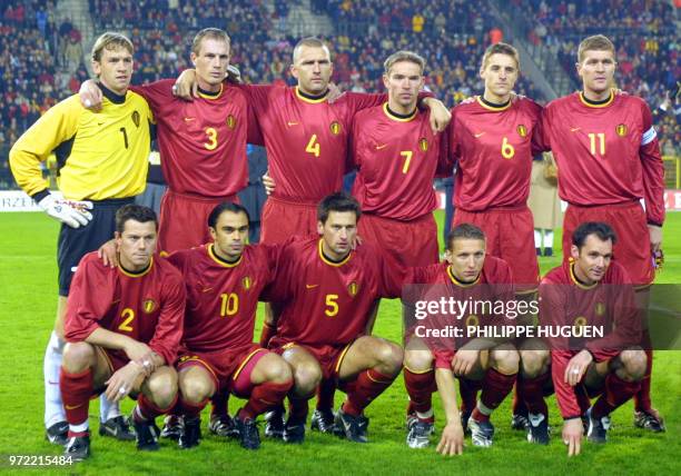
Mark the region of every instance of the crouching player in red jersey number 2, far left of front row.
[[154, 419], [175, 405], [172, 364], [185, 314], [179, 272], [154, 259], [156, 214], [138, 205], [116, 212], [118, 267], [105, 266], [97, 252], [86, 255], [67, 305], [67, 346], [60, 389], [69, 423], [66, 455], [90, 455], [88, 407], [92, 395], [111, 401], [137, 397], [132, 422], [139, 449], [158, 449]]

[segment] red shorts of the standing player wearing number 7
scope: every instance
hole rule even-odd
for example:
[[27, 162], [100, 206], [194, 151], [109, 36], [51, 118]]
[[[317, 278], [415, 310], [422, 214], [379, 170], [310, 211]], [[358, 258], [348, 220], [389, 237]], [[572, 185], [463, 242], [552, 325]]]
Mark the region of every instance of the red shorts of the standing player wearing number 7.
[[440, 260], [437, 225], [433, 214], [411, 221], [363, 215], [357, 224], [357, 235], [384, 252], [392, 271], [406, 271], [408, 267], [434, 265]]

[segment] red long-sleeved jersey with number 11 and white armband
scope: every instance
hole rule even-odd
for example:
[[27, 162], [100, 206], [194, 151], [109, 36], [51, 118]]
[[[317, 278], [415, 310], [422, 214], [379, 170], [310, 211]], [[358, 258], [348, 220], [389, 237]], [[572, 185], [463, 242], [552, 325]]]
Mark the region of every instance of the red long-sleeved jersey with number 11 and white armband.
[[648, 105], [611, 93], [601, 105], [581, 92], [556, 99], [542, 118], [542, 142], [559, 167], [559, 195], [581, 206], [645, 199], [649, 222], [664, 221], [664, 167]]

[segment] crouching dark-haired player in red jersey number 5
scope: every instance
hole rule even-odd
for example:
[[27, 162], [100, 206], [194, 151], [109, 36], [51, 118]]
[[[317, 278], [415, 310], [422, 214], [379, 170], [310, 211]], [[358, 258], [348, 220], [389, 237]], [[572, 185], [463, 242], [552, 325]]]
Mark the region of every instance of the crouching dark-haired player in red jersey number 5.
[[335, 420], [340, 434], [366, 443], [364, 409], [402, 369], [402, 348], [368, 335], [387, 277], [373, 248], [352, 249], [359, 214], [357, 201], [343, 194], [322, 200], [317, 224], [322, 237], [287, 246], [267, 291], [280, 311], [269, 347], [282, 354], [294, 374], [284, 429], [288, 443], [303, 442], [307, 400], [322, 378], [347, 393]]

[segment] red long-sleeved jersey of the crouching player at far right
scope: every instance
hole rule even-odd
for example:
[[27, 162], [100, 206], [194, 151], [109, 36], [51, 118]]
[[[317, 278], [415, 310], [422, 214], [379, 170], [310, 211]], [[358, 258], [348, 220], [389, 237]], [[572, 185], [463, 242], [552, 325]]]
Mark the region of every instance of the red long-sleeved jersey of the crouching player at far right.
[[588, 349], [595, 361], [616, 356], [641, 340], [640, 317], [633, 287], [626, 270], [611, 261], [601, 282], [580, 284], [572, 264], [553, 268], [540, 284], [540, 323], [542, 326], [602, 327], [602, 338], [551, 338], [551, 373], [555, 396], [563, 418], [581, 415], [574, 387], [564, 381], [568, 363], [581, 349]]

